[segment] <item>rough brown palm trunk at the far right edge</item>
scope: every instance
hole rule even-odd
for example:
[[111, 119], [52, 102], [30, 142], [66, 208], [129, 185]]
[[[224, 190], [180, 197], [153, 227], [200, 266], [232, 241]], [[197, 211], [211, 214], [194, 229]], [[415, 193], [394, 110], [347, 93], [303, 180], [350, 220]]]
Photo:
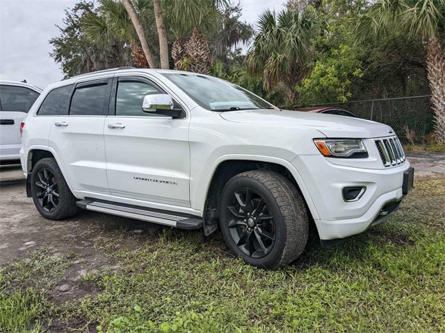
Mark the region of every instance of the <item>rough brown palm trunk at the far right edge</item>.
[[437, 142], [445, 144], [445, 50], [437, 39], [429, 40], [426, 45], [426, 68]]

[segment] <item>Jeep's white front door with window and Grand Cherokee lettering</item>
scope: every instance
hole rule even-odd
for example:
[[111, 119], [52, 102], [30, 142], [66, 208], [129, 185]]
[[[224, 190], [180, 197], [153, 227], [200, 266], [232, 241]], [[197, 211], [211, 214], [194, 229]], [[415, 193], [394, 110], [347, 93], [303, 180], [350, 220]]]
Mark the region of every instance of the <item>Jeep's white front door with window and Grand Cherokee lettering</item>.
[[189, 117], [143, 112], [145, 95], [164, 93], [147, 78], [122, 76], [113, 86], [104, 126], [111, 194], [190, 207]]

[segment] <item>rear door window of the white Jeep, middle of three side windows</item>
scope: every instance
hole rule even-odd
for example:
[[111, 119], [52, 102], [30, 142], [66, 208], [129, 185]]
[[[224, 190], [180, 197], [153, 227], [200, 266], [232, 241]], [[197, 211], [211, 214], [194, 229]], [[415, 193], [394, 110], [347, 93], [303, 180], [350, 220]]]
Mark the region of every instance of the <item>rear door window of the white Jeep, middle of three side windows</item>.
[[70, 115], [100, 116], [104, 114], [106, 87], [105, 83], [76, 88], [71, 100]]

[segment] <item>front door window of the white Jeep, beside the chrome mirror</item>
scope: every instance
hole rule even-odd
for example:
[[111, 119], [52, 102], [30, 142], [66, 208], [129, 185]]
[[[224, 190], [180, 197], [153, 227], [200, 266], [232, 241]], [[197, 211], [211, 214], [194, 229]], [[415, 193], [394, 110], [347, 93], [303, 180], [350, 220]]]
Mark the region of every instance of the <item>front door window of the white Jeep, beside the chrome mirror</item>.
[[120, 82], [116, 93], [117, 116], [149, 116], [143, 112], [144, 96], [149, 94], [162, 94], [153, 85], [143, 82]]

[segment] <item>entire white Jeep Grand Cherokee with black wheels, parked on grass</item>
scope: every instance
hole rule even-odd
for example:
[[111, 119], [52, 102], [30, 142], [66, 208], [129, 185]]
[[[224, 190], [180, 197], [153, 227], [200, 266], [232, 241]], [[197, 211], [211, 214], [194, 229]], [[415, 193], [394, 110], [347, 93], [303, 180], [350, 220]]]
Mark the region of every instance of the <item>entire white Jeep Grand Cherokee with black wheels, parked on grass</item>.
[[218, 78], [113, 69], [47, 87], [25, 119], [27, 193], [47, 219], [80, 208], [177, 228], [220, 227], [276, 268], [393, 212], [414, 170], [389, 126], [286, 111]]

